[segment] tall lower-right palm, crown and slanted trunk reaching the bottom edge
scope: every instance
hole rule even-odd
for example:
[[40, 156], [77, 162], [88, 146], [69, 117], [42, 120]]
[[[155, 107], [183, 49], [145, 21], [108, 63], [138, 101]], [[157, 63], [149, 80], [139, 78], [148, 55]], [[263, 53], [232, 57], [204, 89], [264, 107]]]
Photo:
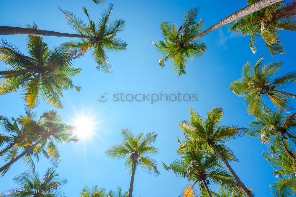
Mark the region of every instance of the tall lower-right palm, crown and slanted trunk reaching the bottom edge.
[[248, 197], [253, 197], [229, 165], [228, 160], [237, 161], [237, 159], [231, 149], [224, 144], [230, 139], [241, 136], [244, 128], [220, 125], [223, 117], [222, 108], [216, 107], [209, 110], [205, 119], [192, 109], [190, 109], [190, 114], [190, 121], [183, 121], [180, 124], [180, 129], [184, 132], [185, 141], [179, 141], [180, 149], [178, 152], [195, 149], [200, 152], [210, 152], [211, 154], [218, 155], [244, 193]]

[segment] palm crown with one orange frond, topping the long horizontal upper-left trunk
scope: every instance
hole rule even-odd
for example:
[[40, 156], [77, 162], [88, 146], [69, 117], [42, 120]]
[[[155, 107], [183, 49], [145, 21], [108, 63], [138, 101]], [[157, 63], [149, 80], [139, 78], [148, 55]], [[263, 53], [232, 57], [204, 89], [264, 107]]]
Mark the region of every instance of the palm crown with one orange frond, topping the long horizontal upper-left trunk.
[[125, 21], [116, 19], [113, 22], [109, 22], [113, 11], [113, 4], [109, 4], [108, 8], [101, 13], [101, 18], [98, 22], [91, 20], [86, 7], [82, 7], [89, 20], [88, 24], [75, 14], [61, 8], [59, 9], [65, 14], [66, 22], [77, 34], [91, 37], [90, 39], [75, 40], [72, 43], [72, 46], [79, 50], [77, 57], [90, 50], [92, 58], [98, 64], [96, 68], [105, 73], [112, 73], [107, 53], [125, 50], [127, 46], [126, 42], [116, 37], [119, 32], [123, 31]]

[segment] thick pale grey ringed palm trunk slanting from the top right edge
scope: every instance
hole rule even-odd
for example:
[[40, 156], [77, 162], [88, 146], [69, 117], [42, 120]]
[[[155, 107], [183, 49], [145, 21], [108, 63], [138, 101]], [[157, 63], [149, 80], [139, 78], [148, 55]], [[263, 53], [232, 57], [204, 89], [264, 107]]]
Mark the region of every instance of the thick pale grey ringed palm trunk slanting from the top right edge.
[[220, 27], [223, 27], [224, 25], [227, 25], [237, 19], [240, 19], [242, 17], [247, 16], [248, 14], [252, 14], [253, 12], [256, 12], [260, 9], [265, 8], [266, 6], [269, 6], [271, 4], [274, 4], [276, 2], [279, 2], [282, 0], [259, 0], [256, 1], [255, 3], [235, 12], [234, 14], [231, 14], [230, 16], [228, 16], [227, 18], [221, 20], [220, 22], [216, 23], [215, 25], [213, 25], [212, 27], [208, 28], [207, 30], [201, 32], [199, 35], [197, 35], [195, 38], [193, 38], [192, 40], [189, 40], [185, 43], [186, 45], [189, 45], [190, 43], [193, 43], [195, 40], [200, 39], [202, 36], [207, 35], [210, 32], [213, 32], [217, 29], [219, 29]]

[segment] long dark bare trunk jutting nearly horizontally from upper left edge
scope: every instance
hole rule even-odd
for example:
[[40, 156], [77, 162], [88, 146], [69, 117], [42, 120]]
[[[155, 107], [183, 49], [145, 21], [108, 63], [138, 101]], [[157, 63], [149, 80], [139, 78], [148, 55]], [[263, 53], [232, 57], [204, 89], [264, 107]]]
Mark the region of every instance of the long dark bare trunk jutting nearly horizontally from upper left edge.
[[94, 40], [93, 37], [79, 34], [60, 33], [46, 30], [34, 30], [23, 27], [0, 26], [0, 35], [37, 35], [37, 36], [57, 36], [68, 38], [88, 38]]

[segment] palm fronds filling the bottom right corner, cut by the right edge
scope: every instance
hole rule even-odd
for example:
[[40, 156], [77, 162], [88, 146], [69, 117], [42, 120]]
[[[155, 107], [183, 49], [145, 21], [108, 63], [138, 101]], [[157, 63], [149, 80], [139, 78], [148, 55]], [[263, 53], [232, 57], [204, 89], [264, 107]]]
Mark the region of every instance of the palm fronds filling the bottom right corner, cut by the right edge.
[[[289, 149], [292, 149], [289, 147]], [[270, 162], [271, 166], [275, 169], [274, 174], [278, 180], [272, 183], [269, 187], [273, 196], [287, 197], [295, 195], [296, 190], [296, 162], [294, 159], [285, 154], [286, 152], [283, 147], [278, 147], [274, 150], [270, 147], [262, 154]], [[295, 152], [293, 153], [295, 155]]]

